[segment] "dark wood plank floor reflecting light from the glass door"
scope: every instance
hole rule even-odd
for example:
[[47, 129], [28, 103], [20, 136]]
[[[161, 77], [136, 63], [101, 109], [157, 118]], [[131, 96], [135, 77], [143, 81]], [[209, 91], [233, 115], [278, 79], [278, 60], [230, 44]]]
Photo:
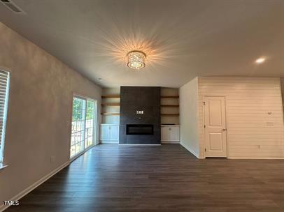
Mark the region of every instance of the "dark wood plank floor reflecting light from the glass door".
[[198, 160], [178, 144], [102, 144], [6, 212], [283, 212], [283, 162]]

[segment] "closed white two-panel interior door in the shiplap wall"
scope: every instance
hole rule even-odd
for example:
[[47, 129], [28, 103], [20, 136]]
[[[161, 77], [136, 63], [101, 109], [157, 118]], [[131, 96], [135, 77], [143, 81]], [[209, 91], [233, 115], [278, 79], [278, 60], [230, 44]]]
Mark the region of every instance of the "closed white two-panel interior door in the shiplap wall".
[[225, 97], [204, 97], [206, 157], [227, 157]]

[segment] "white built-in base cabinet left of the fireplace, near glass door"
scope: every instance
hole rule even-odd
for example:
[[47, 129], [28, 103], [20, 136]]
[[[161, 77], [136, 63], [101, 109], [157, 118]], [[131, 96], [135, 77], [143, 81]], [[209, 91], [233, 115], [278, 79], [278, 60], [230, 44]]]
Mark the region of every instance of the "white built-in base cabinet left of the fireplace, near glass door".
[[101, 143], [118, 143], [119, 138], [119, 125], [101, 123], [100, 137]]

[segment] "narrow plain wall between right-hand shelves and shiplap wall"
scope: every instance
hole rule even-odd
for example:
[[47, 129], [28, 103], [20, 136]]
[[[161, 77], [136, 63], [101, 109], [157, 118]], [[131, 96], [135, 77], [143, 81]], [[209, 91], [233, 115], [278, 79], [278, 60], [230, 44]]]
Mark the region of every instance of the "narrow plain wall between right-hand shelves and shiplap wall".
[[180, 144], [199, 156], [198, 78], [180, 87]]

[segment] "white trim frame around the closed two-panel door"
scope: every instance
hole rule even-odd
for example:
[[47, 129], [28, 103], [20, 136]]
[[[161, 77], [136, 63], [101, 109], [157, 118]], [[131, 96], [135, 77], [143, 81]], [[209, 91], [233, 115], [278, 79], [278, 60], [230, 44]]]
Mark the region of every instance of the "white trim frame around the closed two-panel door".
[[[229, 158], [229, 139], [228, 139], [228, 128], [227, 128], [227, 126], [228, 126], [228, 123], [227, 123], [227, 96], [225, 96], [225, 95], [203, 95], [202, 96], [202, 110], [203, 110], [203, 125], [205, 125], [205, 105], [204, 105], [204, 102], [205, 102], [205, 100], [204, 100], [204, 98], [205, 97], [224, 97], [225, 98], [225, 121], [226, 121], [226, 123], [225, 123], [225, 126], [226, 126], [226, 152], [227, 152], [227, 157], [225, 157], [225, 158]], [[204, 146], [204, 148], [203, 148], [203, 152], [204, 152], [204, 158], [206, 158], [206, 152], [205, 152], [205, 128], [203, 128], [203, 146]], [[210, 157], [208, 157], [208, 158], [210, 158]]]

